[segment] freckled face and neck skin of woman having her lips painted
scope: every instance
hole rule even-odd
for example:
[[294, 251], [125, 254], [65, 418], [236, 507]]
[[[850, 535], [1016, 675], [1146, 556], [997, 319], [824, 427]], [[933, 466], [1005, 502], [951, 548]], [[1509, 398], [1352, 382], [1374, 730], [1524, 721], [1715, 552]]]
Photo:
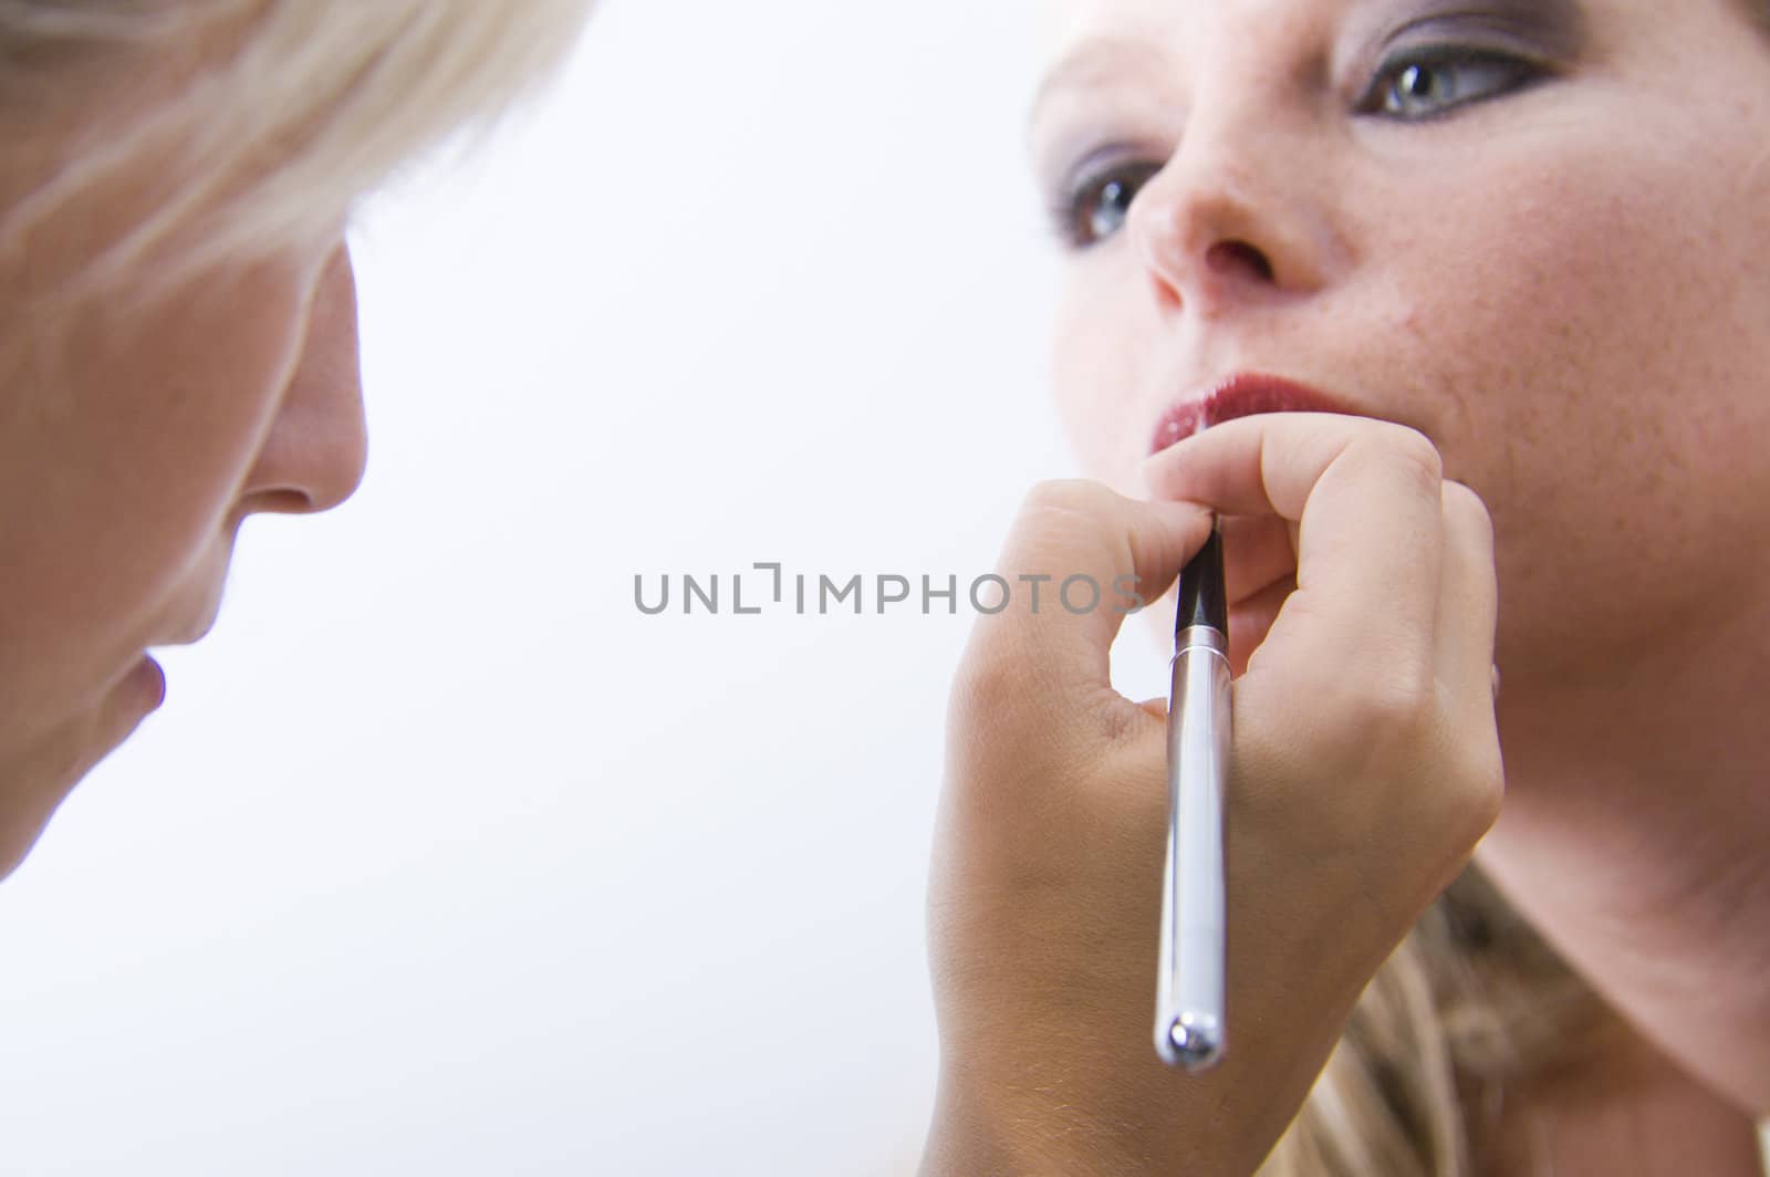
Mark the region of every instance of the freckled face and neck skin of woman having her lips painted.
[[[1046, 5], [1053, 60], [1138, 57], [1041, 108], [1041, 182], [1101, 143], [1163, 165], [1066, 264], [1064, 427], [1127, 494], [1161, 414], [1232, 372], [1425, 432], [1496, 529], [1508, 796], [1480, 860], [1763, 1115], [1770, 894], [1738, 864], [1770, 844], [1770, 37], [1731, 0], [1586, 0], [1561, 76], [1400, 124], [1352, 113], [1368, 78], [1299, 81], [1386, 11]], [[1221, 242], [1271, 273], [1212, 271]]]

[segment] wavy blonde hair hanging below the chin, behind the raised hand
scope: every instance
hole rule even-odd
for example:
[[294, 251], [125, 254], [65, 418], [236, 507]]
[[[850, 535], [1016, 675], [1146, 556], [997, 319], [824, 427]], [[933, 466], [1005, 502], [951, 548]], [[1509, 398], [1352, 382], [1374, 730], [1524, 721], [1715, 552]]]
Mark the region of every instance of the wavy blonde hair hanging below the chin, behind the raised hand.
[[1620, 1019], [1467, 867], [1377, 972], [1258, 1177], [1469, 1177], [1508, 1090]]

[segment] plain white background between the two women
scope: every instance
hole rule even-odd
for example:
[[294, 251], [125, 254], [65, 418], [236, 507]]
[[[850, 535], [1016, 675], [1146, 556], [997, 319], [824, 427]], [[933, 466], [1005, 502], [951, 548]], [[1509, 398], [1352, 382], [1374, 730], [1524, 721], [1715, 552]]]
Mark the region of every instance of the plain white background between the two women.
[[913, 1170], [968, 619], [634, 575], [965, 581], [1067, 473], [1027, 19], [605, 0], [372, 205], [363, 490], [0, 887], [0, 1173]]

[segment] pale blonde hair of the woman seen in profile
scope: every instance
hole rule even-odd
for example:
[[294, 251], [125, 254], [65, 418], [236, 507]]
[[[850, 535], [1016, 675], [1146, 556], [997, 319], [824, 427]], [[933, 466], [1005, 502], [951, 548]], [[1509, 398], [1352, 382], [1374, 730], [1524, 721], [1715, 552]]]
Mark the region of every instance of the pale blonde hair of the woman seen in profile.
[[402, 159], [554, 65], [588, 7], [0, 0], [0, 152], [48, 145], [0, 209], [0, 253], [83, 195], [143, 177], [159, 184], [149, 214], [94, 242], [81, 280], [136, 265], [196, 216], [200, 237], [158, 278], [336, 232]]

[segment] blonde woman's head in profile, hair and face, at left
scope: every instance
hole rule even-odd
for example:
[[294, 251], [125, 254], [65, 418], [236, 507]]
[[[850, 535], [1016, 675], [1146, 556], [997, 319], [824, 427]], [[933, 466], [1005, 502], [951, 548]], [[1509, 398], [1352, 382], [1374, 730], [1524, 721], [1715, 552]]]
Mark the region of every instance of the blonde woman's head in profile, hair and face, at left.
[[0, 5], [0, 876], [165, 699], [241, 522], [365, 464], [343, 232], [582, 0]]

